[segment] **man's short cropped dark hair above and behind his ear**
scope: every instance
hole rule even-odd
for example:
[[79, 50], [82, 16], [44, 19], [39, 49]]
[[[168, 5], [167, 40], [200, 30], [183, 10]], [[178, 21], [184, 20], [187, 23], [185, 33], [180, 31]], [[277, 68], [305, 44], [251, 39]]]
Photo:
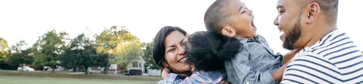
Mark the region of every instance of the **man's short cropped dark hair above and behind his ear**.
[[338, 0], [299, 0], [302, 3], [302, 7], [306, 7], [311, 3], [318, 3], [320, 10], [326, 16], [327, 21], [330, 24], [336, 24], [338, 18]]

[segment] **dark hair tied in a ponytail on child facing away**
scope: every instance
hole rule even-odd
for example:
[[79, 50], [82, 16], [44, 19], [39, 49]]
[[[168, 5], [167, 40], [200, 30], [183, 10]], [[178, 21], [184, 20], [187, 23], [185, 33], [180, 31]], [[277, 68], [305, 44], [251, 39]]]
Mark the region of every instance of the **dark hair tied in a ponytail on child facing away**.
[[186, 54], [196, 70], [215, 71], [223, 69], [224, 61], [234, 58], [240, 46], [237, 38], [201, 31], [189, 36]]

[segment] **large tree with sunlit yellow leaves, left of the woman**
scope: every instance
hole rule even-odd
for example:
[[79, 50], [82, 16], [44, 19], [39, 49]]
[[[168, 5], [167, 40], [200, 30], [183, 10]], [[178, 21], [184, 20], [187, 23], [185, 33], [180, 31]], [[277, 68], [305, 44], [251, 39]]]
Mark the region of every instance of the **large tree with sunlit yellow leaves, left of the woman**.
[[[138, 54], [142, 53], [141, 50], [141, 43], [139, 42], [139, 38], [132, 35], [129, 31], [125, 29], [125, 26], [121, 27], [121, 30], [117, 28], [117, 26], [112, 26], [110, 29], [103, 30], [101, 34], [96, 35], [96, 50], [97, 53], [101, 54], [109, 54], [109, 62], [110, 63], [117, 63], [122, 65], [121, 67], [124, 68], [124, 70], [127, 68], [126, 64], [129, 62], [129, 60], [134, 60], [134, 57], [128, 57], [128, 56], [134, 56], [133, 50], [127, 50], [127, 49], [133, 49], [131, 47], [137, 47], [139, 48], [140, 52]], [[130, 46], [131, 45], [131, 46]], [[135, 49], [137, 50], [137, 49]], [[133, 52], [133, 53], [127, 53], [127, 52]], [[138, 56], [138, 55], [137, 55]], [[105, 70], [107, 71], [107, 70]]]

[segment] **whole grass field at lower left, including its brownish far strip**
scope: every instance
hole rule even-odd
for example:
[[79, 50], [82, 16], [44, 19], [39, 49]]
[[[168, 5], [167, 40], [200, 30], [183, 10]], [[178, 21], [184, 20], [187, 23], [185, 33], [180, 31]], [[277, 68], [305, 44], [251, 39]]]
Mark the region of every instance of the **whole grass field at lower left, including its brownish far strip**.
[[110, 76], [68, 74], [67, 72], [21, 72], [0, 70], [0, 84], [156, 84], [154, 76]]

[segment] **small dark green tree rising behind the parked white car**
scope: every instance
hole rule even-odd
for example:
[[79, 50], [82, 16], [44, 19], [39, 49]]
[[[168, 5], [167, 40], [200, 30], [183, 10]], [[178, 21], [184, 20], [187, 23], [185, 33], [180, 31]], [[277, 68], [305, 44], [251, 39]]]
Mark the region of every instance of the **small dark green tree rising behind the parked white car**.
[[28, 43], [25, 43], [24, 40], [21, 40], [18, 43], [16, 43], [16, 46], [12, 46], [11, 49], [13, 53], [7, 56], [6, 62], [11, 66], [20, 65], [21, 67], [23, 67], [24, 64], [32, 64], [33, 62], [32, 51], [26, 46], [28, 46]]

